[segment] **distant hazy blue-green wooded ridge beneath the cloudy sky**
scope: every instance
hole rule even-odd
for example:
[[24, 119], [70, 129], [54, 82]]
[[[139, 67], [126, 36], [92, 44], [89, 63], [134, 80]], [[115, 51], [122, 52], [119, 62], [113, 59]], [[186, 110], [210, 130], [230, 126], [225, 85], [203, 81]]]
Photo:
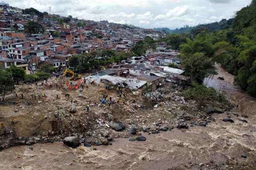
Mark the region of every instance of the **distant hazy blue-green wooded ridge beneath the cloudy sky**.
[[206, 31], [220, 31], [222, 29], [228, 29], [232, 26], [234, 18], [231, 19], [222, 19], [220, 22], [210, 23], [210, 24], [199, 24], [195, 27], [189, 27], [188, 25], [178, 29], [170, 30], [169, 28], [154, 28], [155, 31], [165, 31], [166, 33], [195, 33], [198, 30], [206, 30]]

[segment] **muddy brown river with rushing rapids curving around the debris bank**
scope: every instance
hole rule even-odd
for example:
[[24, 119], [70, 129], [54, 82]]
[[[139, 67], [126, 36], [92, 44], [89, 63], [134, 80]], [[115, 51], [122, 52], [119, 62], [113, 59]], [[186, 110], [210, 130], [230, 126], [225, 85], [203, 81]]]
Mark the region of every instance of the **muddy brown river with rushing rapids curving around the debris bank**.
[[[33, 151], [25, 145], [11, 147], [0, 152], [0, 169], [256, 169], [256, 100], [235, 87], [233, 76], [219, 66], [218, 73], [206, 80], [207, 85], [225, 93], [235, 108], [214, 114], [216, 121], [206, 127], [143, 134], [145, 142], [119, 138], [96, 151], [83, 145], [68, 148], [61, 142], [37, 143]], [[222, 121], [228, 113], [234, 123]]]

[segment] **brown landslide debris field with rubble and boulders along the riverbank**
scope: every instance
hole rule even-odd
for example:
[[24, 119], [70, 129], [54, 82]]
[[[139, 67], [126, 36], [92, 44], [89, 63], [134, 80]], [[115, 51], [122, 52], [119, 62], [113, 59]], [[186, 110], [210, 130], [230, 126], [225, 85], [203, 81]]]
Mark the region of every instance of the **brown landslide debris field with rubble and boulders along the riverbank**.
[[[120, 97], [116, 87], [106, 90], [96, 84], [71, 91], [56, 88], [55, 84], [63, 81], [49, 79], [49, 87], [44, 87], [45, 82], [22, 84], [17, 87], [18, 97], [14, 94], [7, 96], [7, 101], [0, 105], [2, 149], [62, 141], [66, 136], [77, 136], [82, 141], [94, 143], [108, 139], [109, 143], [113, 138], [129, 137], [131, 127], [136, 127], [138, 132], [159, 133], [176, 127], [189, 128], [192, 121], [193, 125], [200, 126], [214, 121], [210, 114], [198, 111], [194, 100], [185, 100], [182, 90], [168, 85], [152, 93], [152, 97], [142, 96], [139, 90], [127, 89]], [[44, 101], [41, 98], [43, 93], [46, 95]], [[107, 95], [106, 104], [100, 102], [103, 95]], [[115, 104], [111, 102], [109, 107], [110, 96]], [[71, 105], [75, 106], [73, 113], [70, 113]], [[208, 110], [211, 107], [214, 106], [205, 106]], [[221, 113], [230, 109], [218, 107]]]

